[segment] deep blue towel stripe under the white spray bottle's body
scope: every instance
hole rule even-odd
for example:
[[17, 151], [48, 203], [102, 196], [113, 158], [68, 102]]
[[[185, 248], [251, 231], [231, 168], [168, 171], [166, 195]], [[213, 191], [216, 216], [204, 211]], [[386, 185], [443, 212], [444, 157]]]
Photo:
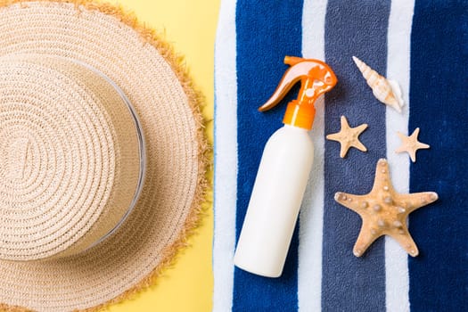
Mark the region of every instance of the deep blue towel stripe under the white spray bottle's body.
[[[267, 139], [282, 127], [285, 105], [257, 111], [275, 91], [287, 69], [284, 55], [300, 55], [302, 1], [237, 1], [238, 177], [236, 237]], [[287, 103], [291, 99], [284, 99]], [[297, 300], [297, 231], [283, 275], [277, 279], [234, 271], [234, 311], [294, 311]]]

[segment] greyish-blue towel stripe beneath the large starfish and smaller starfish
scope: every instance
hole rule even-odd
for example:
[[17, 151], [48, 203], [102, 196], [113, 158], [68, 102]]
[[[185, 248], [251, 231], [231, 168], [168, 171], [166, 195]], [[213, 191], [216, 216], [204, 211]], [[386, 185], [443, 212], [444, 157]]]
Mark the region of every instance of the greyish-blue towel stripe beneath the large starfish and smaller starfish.
[[322, 307], [324, 311], [385, 310], [384, 241], [379, 239], [356, 258], [353, 246], [361, 227], [359, 216], [333, 200], [335, 192], [369, 193], [375, 164], [386, 155], [385, 106], [378, 103], [351, 59], [386, 72], [390, 1], [328, 2], [325, 20], [325, 59], [338, 76], [326, 95], [325, 134], [340, 130], [340, 116], [351, 127], [367, 123], [360, 135], [368, 152], [351, 149], [344, 160], [340, 144], [325, 142], [324, 240]]

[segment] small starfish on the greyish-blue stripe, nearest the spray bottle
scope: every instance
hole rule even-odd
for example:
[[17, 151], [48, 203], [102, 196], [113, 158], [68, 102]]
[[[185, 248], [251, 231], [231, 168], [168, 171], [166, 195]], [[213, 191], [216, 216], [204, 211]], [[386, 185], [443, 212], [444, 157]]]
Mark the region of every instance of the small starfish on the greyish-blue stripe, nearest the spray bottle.
[[338, 141], [341, 144], [340, 157], [344, 158], [350, 147], [356, 147], [357, 150], [367, 152], [364, 144], [359, 141], [358, 136], [367, 128], [367, 124], [357, 127], [349, 127], [348, 119], [341, 116], [341, 130], [332, 135], [326, 135], [328, 140]]

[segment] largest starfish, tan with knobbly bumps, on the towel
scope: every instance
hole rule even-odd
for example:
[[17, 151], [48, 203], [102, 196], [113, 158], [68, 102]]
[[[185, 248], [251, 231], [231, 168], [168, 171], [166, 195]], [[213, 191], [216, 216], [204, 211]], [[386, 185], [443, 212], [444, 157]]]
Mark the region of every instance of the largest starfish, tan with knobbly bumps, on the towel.
[[363, 220], [353, 249], [356, 257], [362, 256], [365, 250], [382, 235], [389, 235], [409, 255], [417, 256], [419, 251], [408, 232], [406, 218], [415, 209], [437, 201], [438, 198], [435, 192], [397, 193], [391, 185], [389, 164], [384, 159], [377, 162], [371, 193], [365, 195], [335, 193], [335, 201], [357, 212]]

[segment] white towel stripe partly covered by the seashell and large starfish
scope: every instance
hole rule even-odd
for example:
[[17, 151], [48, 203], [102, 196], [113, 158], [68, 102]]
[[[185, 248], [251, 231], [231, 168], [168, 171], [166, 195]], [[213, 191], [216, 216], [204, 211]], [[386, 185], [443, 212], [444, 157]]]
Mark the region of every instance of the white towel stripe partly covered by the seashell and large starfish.
[[[393, 0], [390, 8], [388, 32], [387, 78], [396, 80], [401, 87], [405, 107], [403, 113], [387, 108], [387, 158], [392, 171], [391, 179], [399, 193], [409, 191], [409, 157], [396, 154], [400, 141], [397, 131], [407, 133], [409, 117], [409, 69], [411, 24], [414, 0]], [[406, 251], [390, 237], [385, 238], [385, 275], [387, 311], [409, 311], [409, 275]]]

